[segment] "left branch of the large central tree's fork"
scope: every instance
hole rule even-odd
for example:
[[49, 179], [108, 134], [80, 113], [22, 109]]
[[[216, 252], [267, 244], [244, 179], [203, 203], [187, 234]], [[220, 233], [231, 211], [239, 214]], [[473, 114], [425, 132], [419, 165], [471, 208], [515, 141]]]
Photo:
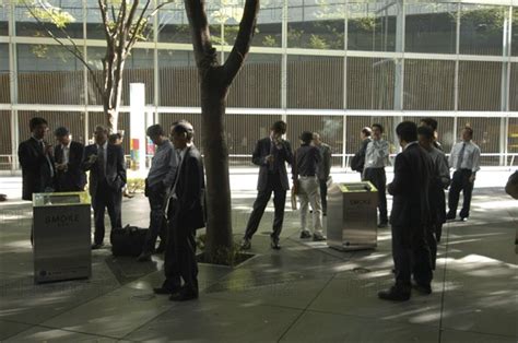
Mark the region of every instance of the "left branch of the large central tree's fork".
[[216, 50], [212, 47], [205, 2], [203, 0], [185, 0], [185, 7], [190, 24], [196, 64], [201, 72], [207, 72], [211, 67], [217, 67], [219, 63]]

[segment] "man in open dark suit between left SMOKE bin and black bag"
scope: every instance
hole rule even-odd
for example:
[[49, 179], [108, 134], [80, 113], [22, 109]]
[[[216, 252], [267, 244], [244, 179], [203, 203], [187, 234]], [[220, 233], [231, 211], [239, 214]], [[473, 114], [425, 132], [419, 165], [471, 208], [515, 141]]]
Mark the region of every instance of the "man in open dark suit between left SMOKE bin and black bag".
[[84, 150], [83, 170], [90, 170], [90, 194], [94, 209], [95, 234], [92, 249], [103, 247], [104, 213], [108, 209], [111, 229], [122, 227], [122, 187], [126, 185], [125, 155], [120, 145], [108, 144], [108, 129], [95, 128], [95, 144]]

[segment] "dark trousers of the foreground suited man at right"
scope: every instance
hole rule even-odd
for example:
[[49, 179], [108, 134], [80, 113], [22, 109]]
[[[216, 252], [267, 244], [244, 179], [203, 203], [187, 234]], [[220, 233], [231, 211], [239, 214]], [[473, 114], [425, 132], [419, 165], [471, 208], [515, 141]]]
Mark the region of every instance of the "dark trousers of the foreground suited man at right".
[[427, 285], [432, 282], [431, 253], [425, 235], [424, 227], [392, 226], [392, 258], [397, 285], [410, 286], [412, 274], [420, 284]]

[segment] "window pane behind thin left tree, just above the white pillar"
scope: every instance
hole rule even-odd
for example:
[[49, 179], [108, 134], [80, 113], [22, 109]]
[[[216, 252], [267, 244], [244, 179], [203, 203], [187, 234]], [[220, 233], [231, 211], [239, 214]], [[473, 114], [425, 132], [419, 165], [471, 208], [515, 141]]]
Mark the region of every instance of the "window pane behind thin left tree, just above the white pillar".
[[[102, 59], [106, 54], [106, 48], [89, 47], [89, 63], [95, 70], [95, 75], [99, 85], [103, 85], [103, 63]], [[154, 78], [153, 78], [153, 50], [133, 49], [128, 56], [122, 74], [122, 97], [121, 105], [130, 104], [130, 83], [145, 84], [145, 104], [153, 104], [154, 99]], [[92, 75], [89, 73], [89, 104], [102, 105], [102, 97]]]

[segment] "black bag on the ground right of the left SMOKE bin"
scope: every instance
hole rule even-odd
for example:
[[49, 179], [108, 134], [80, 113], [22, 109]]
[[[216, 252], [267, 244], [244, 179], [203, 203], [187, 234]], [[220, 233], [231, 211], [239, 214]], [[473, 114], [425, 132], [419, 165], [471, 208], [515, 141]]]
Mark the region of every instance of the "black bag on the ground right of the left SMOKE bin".
[[148, 228], [126, 225], [111, 229], [111, 253], [114, 256], [138, 257], [144, 248]]

